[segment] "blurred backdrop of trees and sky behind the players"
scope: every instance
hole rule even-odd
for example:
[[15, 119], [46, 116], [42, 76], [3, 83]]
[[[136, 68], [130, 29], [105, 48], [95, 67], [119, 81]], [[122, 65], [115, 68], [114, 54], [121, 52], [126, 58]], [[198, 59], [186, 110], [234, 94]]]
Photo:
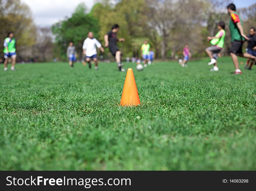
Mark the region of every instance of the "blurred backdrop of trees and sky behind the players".
[[[205, 57], [210, 44], [207, 36], [217, 33], [217, 24], [226, 24], [222, 51], [230, 48], [227, 5], [234, 3], [243, 21], [244, 33], [256, 27], [256, 1], [228, 0], [0, 0], [0, 43], [9, 31], [17, 40], [17, 62], [67, 61], [70, 41], [82, 60], [82, 45], [93, 31], [103, 45], [103, 37], [113, 24], [119, 24], [119, 43], [124, 58], [139, 57], [143, 41], [148, 40], [155, 57], [178, 59], [186, 43], [193, 58]], [[247, 46], [247, 43], [244, 43]], [[106, 49], [100, 58], [113, 59]], [[3, 46], [0, 46], [3, 63]]]

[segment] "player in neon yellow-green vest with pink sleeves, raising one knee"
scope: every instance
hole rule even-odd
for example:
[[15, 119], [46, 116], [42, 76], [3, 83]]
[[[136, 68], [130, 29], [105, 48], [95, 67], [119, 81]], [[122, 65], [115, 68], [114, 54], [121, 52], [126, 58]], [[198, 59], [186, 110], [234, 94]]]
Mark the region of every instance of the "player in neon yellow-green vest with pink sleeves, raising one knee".
[[218, 33], [213, 36], [207, 37], [207, 40], [211, 42], [212, 46], [207, 47], [205, 49], [206, 53], [208, 54], [208, 56], [211, 59], [211, 62], [208, 63], [208, 66], [214, 64], [214, 67], [210, 70], [210, 71], [218, 71], [219, 68], [217, 66], [217, 59], [218, 59], [218, 54], [220, 53], [220, 51], [223, 49], [224, 46], [224, 42], [225, 42], [225, 23], [223, 21], [219, 22], [218, 24]]

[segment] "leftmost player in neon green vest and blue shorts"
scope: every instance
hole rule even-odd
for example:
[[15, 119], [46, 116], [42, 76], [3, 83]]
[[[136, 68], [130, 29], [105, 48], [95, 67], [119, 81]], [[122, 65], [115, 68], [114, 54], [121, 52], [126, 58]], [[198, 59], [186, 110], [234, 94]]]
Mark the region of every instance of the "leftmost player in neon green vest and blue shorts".
[[8, 33], [8, 37], [4, 40], [3, 43], [4, 49], [3, 49], [3, 53], [4, 53], [4, 71], [7, 71], [7, 63], [8, 63], [8, 58], [12, 58], [12, 66], [11, 66], [11, 70], [15, 71], [15, 63], [16, 63], [16, 40], [14, 38], [14, 33], [13, 31]]

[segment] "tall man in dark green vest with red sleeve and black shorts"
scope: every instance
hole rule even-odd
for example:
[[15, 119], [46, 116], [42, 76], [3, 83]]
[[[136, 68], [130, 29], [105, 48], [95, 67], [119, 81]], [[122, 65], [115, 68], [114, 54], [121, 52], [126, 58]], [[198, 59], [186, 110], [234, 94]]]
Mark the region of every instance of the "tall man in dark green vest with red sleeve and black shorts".
[[243, 33], [243, 23], [239, 17], [239, 14], [236, 12], [236, 6], [233, 3], [230, 3], [227, 6], [227, 13], [230, 15], [229, 29], [232, 45], [229, 52], [236, 69], [234, 74], [242, 74], [241, 70], [239, 69], [237, 56], [250, 58], [253, 60], [256, 60], [256, 57], [242, 52], [243, 42], [245, 40], [250, 40], [250, 38]]

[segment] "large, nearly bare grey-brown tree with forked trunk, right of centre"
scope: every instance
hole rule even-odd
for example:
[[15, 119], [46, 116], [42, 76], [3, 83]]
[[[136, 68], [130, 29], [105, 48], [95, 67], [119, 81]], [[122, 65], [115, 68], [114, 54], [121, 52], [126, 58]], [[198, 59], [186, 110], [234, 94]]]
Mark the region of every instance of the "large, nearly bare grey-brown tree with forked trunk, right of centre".
[[[161, 57], [166, 58], [171, 49], [176, 51], [177, 46], [173, 35], [180, 34], [179, 39], [191, 35], [186, 30], [192, 31], [196, 23], [202, 22], [204, 1], [187, 0], [146, 0], [149, 5], [147, 16], [151, 28], [155, 28], [162, 38]], [[192, 39], [193, 40], [193, 39]]]

